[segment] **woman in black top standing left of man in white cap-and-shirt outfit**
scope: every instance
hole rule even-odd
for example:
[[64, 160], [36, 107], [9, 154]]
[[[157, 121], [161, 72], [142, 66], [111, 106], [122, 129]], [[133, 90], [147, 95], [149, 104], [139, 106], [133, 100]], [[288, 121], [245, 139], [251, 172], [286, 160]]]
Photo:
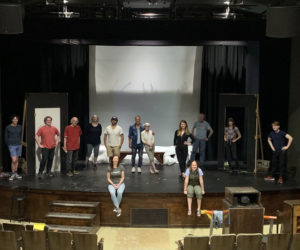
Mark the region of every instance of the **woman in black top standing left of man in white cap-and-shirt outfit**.
[[94, 162], [93, 165], [96, 167], [97, 157], [99, 154], [99, 146], [101, 143], [102, 126], [99, 123], [99, 117], [93, 115], [91, 123], [86, 128], [85, 141], [87, 146], [85, 164], [89, 162], [89, 158], [94, 150]]

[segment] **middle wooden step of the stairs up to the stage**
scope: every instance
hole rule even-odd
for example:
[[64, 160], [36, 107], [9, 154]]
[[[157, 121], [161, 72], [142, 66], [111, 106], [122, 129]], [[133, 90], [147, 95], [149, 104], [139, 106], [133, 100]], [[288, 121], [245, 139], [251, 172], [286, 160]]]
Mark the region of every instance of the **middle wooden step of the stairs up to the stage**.
[[50, 212], [45, 217], [46, 223], [50, 225], [93, 226], [96, 224], [96, 214]]

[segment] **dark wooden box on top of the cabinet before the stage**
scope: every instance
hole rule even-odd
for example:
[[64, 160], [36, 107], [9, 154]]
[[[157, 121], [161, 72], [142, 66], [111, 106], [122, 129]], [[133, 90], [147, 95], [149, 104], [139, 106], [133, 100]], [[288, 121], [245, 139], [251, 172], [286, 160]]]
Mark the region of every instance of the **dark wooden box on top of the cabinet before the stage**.
[[253, 187], [225, 187], [225, 200], [231, 204], [231, 206], [238, 206], [242, 204], [241, 197], [248, 196], [250, 204], [258, 204], [261, 206], [260, 197], [261, 194]]

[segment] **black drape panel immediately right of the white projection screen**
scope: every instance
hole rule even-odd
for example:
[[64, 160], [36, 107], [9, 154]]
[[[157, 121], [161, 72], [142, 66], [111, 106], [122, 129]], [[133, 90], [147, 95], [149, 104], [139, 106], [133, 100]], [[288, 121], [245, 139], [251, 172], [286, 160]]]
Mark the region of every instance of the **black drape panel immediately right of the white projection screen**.
[[214, 130], [207, 145], [207, 160], [217, 159], [217, 123], [220, 93], [245, 93], [245, 46], [204, 46], [200, 110]]

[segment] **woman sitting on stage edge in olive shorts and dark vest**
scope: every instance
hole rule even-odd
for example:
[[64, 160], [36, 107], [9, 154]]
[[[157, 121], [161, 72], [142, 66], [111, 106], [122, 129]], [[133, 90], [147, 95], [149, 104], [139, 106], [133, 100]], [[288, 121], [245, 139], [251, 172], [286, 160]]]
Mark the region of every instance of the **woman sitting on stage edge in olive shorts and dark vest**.
[[197, 161], [192, 161], [189, 168], [185, 171], [184, 194], [187, 195], [188, 215], [192, 214], [192, 202], [194, 193], [197, 197], [197, 216], [201, 216], [201, 199], [205, 194], [203, 172], [198, 166]]

